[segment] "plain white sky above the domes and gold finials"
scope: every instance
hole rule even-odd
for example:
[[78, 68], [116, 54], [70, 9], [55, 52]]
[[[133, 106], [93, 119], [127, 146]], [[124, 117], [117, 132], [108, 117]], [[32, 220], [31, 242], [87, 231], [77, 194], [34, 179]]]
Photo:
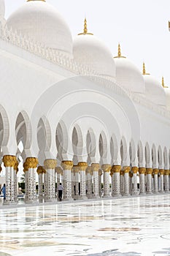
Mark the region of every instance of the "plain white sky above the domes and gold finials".
[[[5, 0], [6, 18], [26, 0]], [[72, 36], [88, 31], [105, 42], [113, 56], [120, 42], [123, 56], [170, 86], [169, 0], [46, 0], [66, 19]]]

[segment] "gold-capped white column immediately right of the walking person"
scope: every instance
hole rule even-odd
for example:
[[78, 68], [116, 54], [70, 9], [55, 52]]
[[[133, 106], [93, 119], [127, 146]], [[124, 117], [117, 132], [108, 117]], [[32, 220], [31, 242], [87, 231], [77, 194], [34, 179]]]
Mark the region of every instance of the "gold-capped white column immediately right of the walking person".
[[73, 200], [72, 198], [72, 161], [63, 161], [63, 200]]

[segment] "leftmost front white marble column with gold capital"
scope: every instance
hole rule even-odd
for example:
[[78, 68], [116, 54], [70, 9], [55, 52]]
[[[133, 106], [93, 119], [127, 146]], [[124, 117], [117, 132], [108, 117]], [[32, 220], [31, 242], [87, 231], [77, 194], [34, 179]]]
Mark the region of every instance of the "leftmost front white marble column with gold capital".
[[15, 166], [17, 163], [17, 159], [15, 156], [6, 155], [3, 157], [2, 161], [4, 162], [4, 167], [6, 168], [6, 171], [5, 171], [6, 199], [4, 200], [4, 204], [14, 204], [16, 203]]

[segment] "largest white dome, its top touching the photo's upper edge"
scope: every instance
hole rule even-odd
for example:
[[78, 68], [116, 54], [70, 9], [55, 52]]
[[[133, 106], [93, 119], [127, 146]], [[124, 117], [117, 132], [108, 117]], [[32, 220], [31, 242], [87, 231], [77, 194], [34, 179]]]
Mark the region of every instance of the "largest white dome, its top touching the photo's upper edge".
[[72, 34], [58, 11], [45, 1], [28, 1], [7, 19], [18, 34], [41, 42], [46, 48], [72, 53]]

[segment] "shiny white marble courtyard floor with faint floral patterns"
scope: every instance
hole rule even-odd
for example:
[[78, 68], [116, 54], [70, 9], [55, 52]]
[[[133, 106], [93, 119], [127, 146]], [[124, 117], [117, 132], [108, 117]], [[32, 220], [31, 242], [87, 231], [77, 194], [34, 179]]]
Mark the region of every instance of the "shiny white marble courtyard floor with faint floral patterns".
[[0, 255], [170, 255], [170, 195], [0, 209]]

